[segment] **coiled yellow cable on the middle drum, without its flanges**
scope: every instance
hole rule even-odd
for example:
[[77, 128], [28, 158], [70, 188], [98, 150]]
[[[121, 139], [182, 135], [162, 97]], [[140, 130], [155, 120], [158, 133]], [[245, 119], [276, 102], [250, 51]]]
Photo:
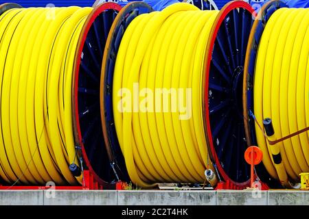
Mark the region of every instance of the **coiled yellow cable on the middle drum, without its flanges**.
[[[205, 170], [214, 170], [203, 128], [202, 79], [217, 15], [176, 3], [137, 16], [124, 33], [115, 63], [113, 112], [130, 179], [138, 186], [203, 183]], [[160, 89], [170, 92], [168, 99]], [[192, 113], [184, 118], [179, 105]]]

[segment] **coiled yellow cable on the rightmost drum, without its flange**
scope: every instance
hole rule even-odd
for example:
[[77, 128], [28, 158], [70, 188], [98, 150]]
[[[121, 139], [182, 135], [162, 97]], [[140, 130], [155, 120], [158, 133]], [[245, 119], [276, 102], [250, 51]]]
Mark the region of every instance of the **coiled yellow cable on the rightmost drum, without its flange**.
[[[254, 111], [260, 124], [264, 118], [273, 120], [271, 140], [309, 126], [308, 55], [309, 9], [277, 10], [262, 34], [254, 79]], [[308, 133], [270, 146], [258, 125], [255, 129], [271, 176], [290, 187], [299, 173], [309, 171]], [[273, 162], [274, 151], [280, 152], [283, 165]]]

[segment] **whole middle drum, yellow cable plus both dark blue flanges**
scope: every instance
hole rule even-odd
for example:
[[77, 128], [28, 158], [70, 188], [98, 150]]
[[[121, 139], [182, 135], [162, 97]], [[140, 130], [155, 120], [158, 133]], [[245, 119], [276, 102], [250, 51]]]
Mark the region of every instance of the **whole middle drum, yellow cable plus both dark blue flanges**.
[[[106, 59], [104, 58], [102, 65], [102, 77], [105, 76], [101, 78], [101, 88], [103, 90], [101, 108], [102, 112], [104, 112], [102, 118], [106, 118], [107, 116], [109, 119], [113, 118], [113, 120], [106, 123], [106, 120], [104, 121], [103, 119], [102, 121], [104, 121], [104, 123], [102, 125], [113, 127], [109, 132], [112, 131], [112, 133], [114, 133], [113, 135], [106, 134], [104, 136], [107, 137], [108, 142], [118, 143], [112, 143], [112, 147], [120, 143], [130, 179], [139, 186], [149, 187], [154, 185], [152, 183], [169, 181], [203, 183], [203, 179], [205, 179], [204, 170], [211, 170], [212, 172], [216, 172], [219, 175], [219, 179], [222, 181], [229, 181], [229, 184], [231, 184], [233, 188], [246, 187], [249, 183], [249, 168], [243, 158], [244, 151], [247, 149], [247, 142], [245, 141], [242, 117], [242, 77], [247, 40], [254, 18], [253, 9], [247, 3], [236, 1], [226, 5], [220, 12], [206, 11], [204, 18], [207, 18], [207, 13], [210, 13], [209, 16], [211, 17], [211, 19], [209, 18], [208, 20], [209, 24], [207, 23], [209, 29], [205, 29], [205, 33], [207, 33], [205, 38], [207, 40], [204, 43], [206, 44], [203, 46], [201, 41], [199, 45], [201, 50], [196, 53], [196, 57], [190, 59], [191, 61], [185, 61], [187, 58], [185, 54], [187, 53], [180, 52], [190, 48], [190, 44], [187, 44], [187, 47], [180, 46], [187, 43], [185, 41], [185, 32], [183, 32], [183, 35], [179, 35], [183, 36], [183, 42], [178, 44], [173, 44], [179, 42], [177, 41], [179, 38], [173, 35], [174, 32], [180, 33], [179, 31], [181, 31], [180, 29], [172, 31], [172, 28], [176, 28], [176, 26], [171, 26], [171, 32], [168, 32], [171, 34], [170, 39], [165, 39], [163, 37], [164, 35], [160, 34], [162, 34], [164, 32], [163, 29], [168, 26], [165, 22], [172, 23], [173, 16], [175, 16], [175, 25], [176, 21], [181, 21], [177, 20], [176, 13], [183, 13], [183, 16], [187, 19], [193, 19], [193, 14], [195, 13], [196, 17], [194, 18], [198, 19], [199, 16], [202, 17], [203, 12], [195, 12], [197, 8], [179, 3], [179, 5], [175, 4], [165, 8], [162, 12], [144, 10], [144, 12], [141, 13], [141, 5], [139, 4], [141, 3], [132, 3], [124, 8], [124, 11], [128, 10], [130, 13], [134, 11], [135, 13], [134, 15], [128, 13], [128, 16], [125, 16], [127, 18], [125, 28], [121, 28], [121, 31], [116, 29], [116, 31], [110, 32], [111, 42], [108, 43], [106, 51], [104, 52], [104, 57], [106, 57]], [[190, 15], [190, 10], [194, 11], [191, 12], [192, 15]], [[185, 15], [186, 13], [187, 15]], [[211, 13], [213, 13], [212, 16]], [[146, 25], [145, 21], [148, 16], [150, 18], [150, 23]], [[143, 18], [145, 21], [143, 21]], [[180, 18], [181, 16], [179, 16], [179, 19]], [[162, 27], [164, 28], [161, 30], [160, 25], [154, 25], [156, 28], [159, 28], [159, 35], [154, 35], [152, 40], [156, 40], [156, 38], [161, 39], [161, 37], [163, 37], [161, 39], [163, 41], [159, 40], [158, 42], [163, 43], [164, 49], [160, 49], [163, 45], [156, 41], [153, 41], [153, 43], [155, 43], [153, 47], [147, 46], [146, 44], [143, 45], [141, 42], [149, 43], [150, 41], [147, 40], [151, 39], [151, 36], [148, 35], [146, 31], [150, 31], [151, 33], [154, 31], [153, 34], [156, 34], [157, 32], [152, 29], [152, 24], [159, 21], [163, 22]], [[186, 19], [185, 21], [188, 22]], [[139, 27], [139, 22], [144, 23], [146, 26], [144, 28]], [[124, 24], [122, 20], [117, 20], [116, 23]], [[179, 27], [181, 27], [181, 25], [184, 24], [179, 23]], [[115, 24], [115, 27], [122, 26]], [[129, 27], [130, 31], [128, 31]], [[183, 26], [183, 28], [186, 29], [190, 27]], [[194, 26], [192, 28], [194, 28]], [[146, 30], [143, 32], [142, 29]], [[141, 33], [133, 35], [137, 38], [131, 36], [131, 40], [128, 40], [128, 36], [130, 34], [135, 34], [135, 31], [141, 31]], [[147, 40], [143, 38], [143, 36], [148, 36]], [[168, 37], [169, 35], [165, 36]], [[139, 37], [141, 38], [139, 39]], [[141, 42], [139, 42], [139, 40], [141, 40]], [[166, 40], [166, 42], [164, 40]], [[130, 44], [133, 42], [139, 43]], [[193, 40], [190, 42], [198, 41]], [[149, 51], [147, 49], [146, 51], [140, 50], [139, 47], [144, 49], [148, 48]], [[177, 56], [175, 60], [172, 60], [171, 57], [174, 57], [178, 52], [174, 55], [172, 53], [167, 54], [173, 51], [167, 49], [169, 47], [173, 49], [183, 48], [183, 50], [179, 50], [179, 54], [183, 54], [184, 56]], [[196, 47], [198, 48], [198, 45], [196, 45]], [[135, 49], [137, 49], [137, 51], [135, 51]], [[158, 51], [160, 55], [157, 54]], [[194, 51], [194, 53], [196, 52], [194, 49], [192, 51]], [[130, 54], [135, 54], [135, 56], [133, 55], [132, 57]], [[150, 67], [147, 72], [144, 71], [143, 68], [144, 62], [148, 63], [148, 57], [152, 57], [155, 61], [149, 61]], [[163, 62], [164, 59], [161, 60], [161, 57], [166, 57], [166, 62]], [[157, 58], [159, 58], [157, 61], [159, 63], [155, 65]], [[168, 67], [168, 65], [172, 63], [174, 63], [174, 66], [179, 65], [181, 59], [183, 59], [182, 63], [188, 64], [188, 66], [194, 65], [194, 62], [196, 66], [199, 66], [196, 68], [195, 73], [191, 73], [193, 75], [189, 77], [191, 78], [188, 79], [189, 82], [193, 80], [193, 78], [196, 81], [203, 81], [200, 82], [200, 85], [193, 86], [196, 88], [194, 95], [197, 95], [193, 98], [196, 101], [194, 103], [192, 102], [192, 104], [194, 104], [192, 107], [196, 110], [194, 112], [195, 124], [193, 120], [189, 120], [190, 122], [188, 123], [187, 121], [179, 122], [172, 114], [152, 114], [151, 112], [143, 114], [138, 112], [138, 118], [135, 116], [137, 115], [135, 112], [132, 114], [130, 112], [128, 112], [128, 114], [126, 114], [126, 112], [117, 112], [117, 107], [119, 107], [117, 104], [121, 99], [118, 96], [118, 89], [128, 88], [127, 86], [129, 86], [130, 89], [133, 88], [133, 81], [134, 83], [145, 83], [143, 80], [146, 80], [146, 88], [149, 88], [148, 86], [151, 85], [150, 90], [152, 88], [162, 88], [165, 82], [159, 83], [159, 79], [165, 81], [171, 76], [175, 77], [175, 79], [171, 79], [171, 81], [177, 81], [176, 76], [172, 73], [172, 68]], [[177, 60], [179, 60], [179, 62]], [[192, 63], [190, 64], [190, 62]], [[198, 62], [202, 64], [199, 65]], [[124, 66], [122, 66], [123, 64]], [[141, 67], [135, 66], [134, 68], [128, 68], [130, 64], [133, 64], [133, 66], [135, 66], [135, 64], [141, 64]], [[188, 72], [181, 70], [184, 66], [180, 64], [179, 68], [176, 68], [181, 71], [180, 74], [184, 74], [183, 77], [181, 76], [178, 78], [178, 80], [181, 79], [181, 81], [183, 80], [182, 78], [186, 77], [185, 72], [190, 73], [190, 70]], [[141, 71], [139, 72], [137, 69]], [[161, 75], [160, 69], [165, 69], [164, 75]], [[171, 72], [169, 72], [169, 69]], [[194, 69], [194, 67], [192, 66], [191, 69]], [[198, 69], [201, 70], [201, 75], [199, 77], [197, 77], [199, 72]], [[130, 73], [128, 73], [130, 77], [128, 77], [128, 75], [125, 76], [125, 74], [127, 74], [126, 71], [130, 71]], [[148, 76], [142, 79], [144, 76], [138, 76], [140, 74], [148, 74]], [[154, 77], [152, 74], [159, 75]], [[173, 76], [169, 76], [169, 74]], [[181, 81], [179, 82], [179, 85], [182, 84], [181, 88], [192, 88], [190, 84], [185, 85], [187, 81]], [[126, 83], [128, 84], [126, 85]], [[155, 83], [155, 85], [152, 83]], [[172, 82], [172, 84], [173, 83], [174, 82]], [[168, 81], [166, 81], [166, 86], [167, 87], [164, 86], [163, 88], [179, 88], [176, 86], [176, 82], [170, 87]], [[198, 89], [201, 89], [200, 92], [198, 92]], [[113, 92], [111, 92], [111, 90], [113, 90]], [[113, 102], [112, 108], [111, 102]], [[106, 105], [106, 103], [108, 104]], [[174, 103], [170, 103], [170, 105], [173, 104]], [[111, 112], [107, 109], [113, 111]], [[108, 112], [113, 114], [113, 116], [108, 116]], [[233, 116], [233, 114], [236, 116]], [[133, 120], [130, 120], [130, 118]], [[126, 125], [124, 125], [125, 121]], [[137, 125], [138, 123], [139, 125]], [[167, 125], [168, 123], [170, 123], [170, 125]], [[138, 128], [139, 126], [140, 129]], [[166, 133], [168, 133], [167, 136]], [[179, 134], [183, 136], [179, 136]], [[195, 136], [196, 134], [198, 134], [198, 136]], [[111, 136], [117, 136], [117, 138], [111, 138]], [[230, 140], [228, 141], [228, 139]], [[152, 149], [149, 147], [150, 145], [152, 145]], [[119, 146], [117, 146], [117, 148], [117, 150], [119, 150]], [[182, 152], [179, 153], [177, 151]], [[210, 151], [210, 153], [207, 153], [207, 151]], [[196, 159], [194, 156], [196, 156]], [[196, 162], [201, 162], [201, 164]], [[196, 175], [194, 177], [195, 173]]]

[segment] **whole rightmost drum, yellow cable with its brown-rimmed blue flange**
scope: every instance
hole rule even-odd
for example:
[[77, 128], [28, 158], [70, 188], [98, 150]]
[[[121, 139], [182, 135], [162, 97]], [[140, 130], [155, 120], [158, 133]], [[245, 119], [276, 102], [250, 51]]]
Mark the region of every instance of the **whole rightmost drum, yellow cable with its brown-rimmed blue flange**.
[[259, 17], [244, 70], [246, 136], [262, 149], [271, 178], [297, 188], [299, 174], [309, 170], [308, 10], [268, 1]]

